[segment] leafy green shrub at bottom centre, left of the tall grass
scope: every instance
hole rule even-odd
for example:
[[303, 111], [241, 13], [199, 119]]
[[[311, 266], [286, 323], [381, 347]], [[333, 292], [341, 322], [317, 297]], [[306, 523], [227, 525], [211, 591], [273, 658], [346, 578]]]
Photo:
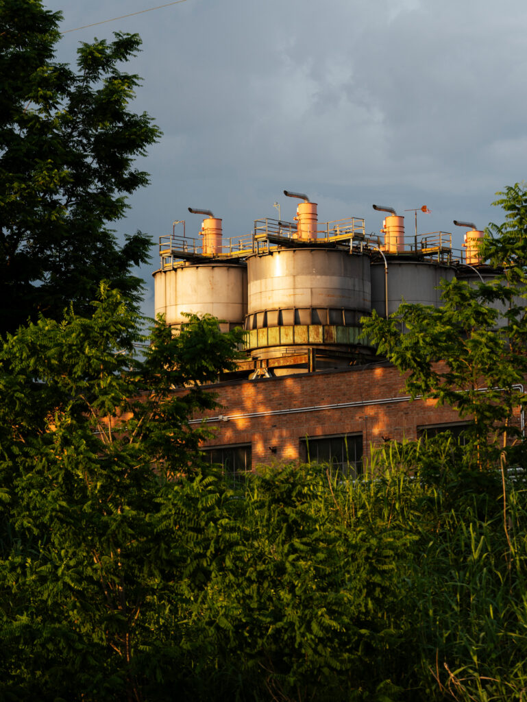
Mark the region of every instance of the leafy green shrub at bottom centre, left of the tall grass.
[[264, 699], [380, 700], [375, 686], [396, 674], [399, 627], [387, 608], [411, 537], [378, 519], [350, 521], [328, 480], [307, 466], [262, 470], [201, 595], [194, 625], [215, 667], [244, 672], [243, 698], [259, 680]]

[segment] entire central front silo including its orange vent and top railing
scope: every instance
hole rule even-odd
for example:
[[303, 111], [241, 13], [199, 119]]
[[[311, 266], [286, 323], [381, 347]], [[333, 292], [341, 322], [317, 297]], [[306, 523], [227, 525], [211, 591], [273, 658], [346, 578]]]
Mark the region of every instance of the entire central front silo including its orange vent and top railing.
[[[371, 351], [359, 338], [359, 321], [371, 312], [370, 260], [350, 246], [352, 234], [319, 237], [316, 203], [284, 194], [302, 199], [297, 224], [288, 225], [287, 239], [267, 231], [267, 246], [247, 259], [247, 350], [284, 366], [309, 353], [320, 367], [347, 365]], [[278, 361], [273, 366], [281, 372]]]

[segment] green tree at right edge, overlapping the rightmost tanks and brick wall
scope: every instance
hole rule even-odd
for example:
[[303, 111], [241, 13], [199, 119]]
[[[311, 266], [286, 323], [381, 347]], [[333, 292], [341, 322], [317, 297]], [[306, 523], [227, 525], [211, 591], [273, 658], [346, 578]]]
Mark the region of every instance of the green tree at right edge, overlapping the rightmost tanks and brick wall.
[[403, 304], [389, 319], [363, 318], [364, 334], [406, 373], [412, 397], [436, 399], [472, 420], [465, 458], [479, 468], [499, 455], [522, 461], [525, 449], [513, 415], [527, 404], [527, 196], [519, 185], [502, 194], [495, 204], [507, 212], [505, 224], [491, 225], [481, 249], [498, 267], [492, 282], [454, 278], [441, 285], [439, 308]]

